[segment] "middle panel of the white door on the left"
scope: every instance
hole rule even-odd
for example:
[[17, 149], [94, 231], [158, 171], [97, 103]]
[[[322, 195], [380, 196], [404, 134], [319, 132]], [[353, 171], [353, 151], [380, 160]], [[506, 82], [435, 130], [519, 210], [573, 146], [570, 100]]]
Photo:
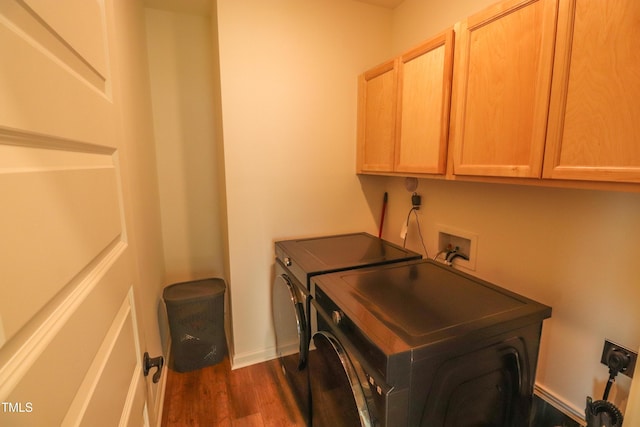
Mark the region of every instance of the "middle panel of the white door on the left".
[[7, 146], [0, 152], [7, 156], [0, 165], [0, 257], [9, 284], [0, 288], [0, 313], [9, 340], [60, 291], [90, 274], [121, 240], [123, 225], [111, 156]]

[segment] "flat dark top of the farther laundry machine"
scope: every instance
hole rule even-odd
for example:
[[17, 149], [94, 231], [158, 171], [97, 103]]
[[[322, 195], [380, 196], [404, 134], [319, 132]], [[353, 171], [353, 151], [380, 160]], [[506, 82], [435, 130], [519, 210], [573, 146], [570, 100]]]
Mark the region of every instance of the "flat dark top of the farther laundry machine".
[[275, 245], [278, 259], [284, 262], [288, 258], [294, 269], [308, 276], [422, 258], [368, 233], [284, 240]]

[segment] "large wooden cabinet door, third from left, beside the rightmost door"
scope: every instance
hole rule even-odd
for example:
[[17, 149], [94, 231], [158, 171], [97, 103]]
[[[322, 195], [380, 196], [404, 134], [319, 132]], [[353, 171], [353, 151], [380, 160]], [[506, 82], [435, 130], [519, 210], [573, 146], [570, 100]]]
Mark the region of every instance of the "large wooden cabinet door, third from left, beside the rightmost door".
[[557, 0], [505, 1], [462, 21], [454, 173], [540, 177]]

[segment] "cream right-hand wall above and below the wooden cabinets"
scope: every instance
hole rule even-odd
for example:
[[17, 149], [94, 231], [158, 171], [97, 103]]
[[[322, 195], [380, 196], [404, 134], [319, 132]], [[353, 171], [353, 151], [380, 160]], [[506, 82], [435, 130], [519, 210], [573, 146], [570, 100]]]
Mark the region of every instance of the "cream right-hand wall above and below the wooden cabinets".
[[[491, 3], [406, 0], [394, 13], [394, 53]], [[385, 237], [399, 242], [410, 195], [402, 179], [385, 186]], [[438, 250], [437, 224], [477, 233], [474, 274], [553, 307], [537, 381], [583, 414], [586, 396], [601, 399], [608, 377], [599, 363], [604, 339], [640, 345], [640, 195], [428, 180], [420, 180], [418, 192], [430, 256]], [[412, 248], [421, 250], [412, 233]], [[619, 375], [610, 395], [621, 409], [629, 386]]]

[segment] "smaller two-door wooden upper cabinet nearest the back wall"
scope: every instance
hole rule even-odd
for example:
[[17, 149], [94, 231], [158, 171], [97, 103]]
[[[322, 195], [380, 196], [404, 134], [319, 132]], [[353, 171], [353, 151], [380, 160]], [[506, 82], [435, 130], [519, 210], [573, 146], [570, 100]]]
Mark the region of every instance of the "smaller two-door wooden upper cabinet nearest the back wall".
[[445, 173], [453, 43], [451, 29], [359, 77], [359, 173]]

